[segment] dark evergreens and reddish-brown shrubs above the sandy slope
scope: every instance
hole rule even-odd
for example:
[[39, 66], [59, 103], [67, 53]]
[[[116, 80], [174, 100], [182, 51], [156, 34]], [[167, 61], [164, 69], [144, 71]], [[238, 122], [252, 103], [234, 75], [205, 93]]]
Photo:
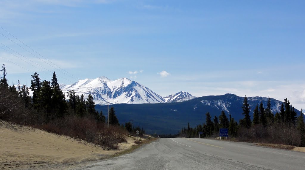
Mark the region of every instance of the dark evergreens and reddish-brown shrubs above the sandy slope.
[[[57, 134], [81, 138], [88, 142], [117, 148], [126, 141], [129, 124], [120, 126], [113, 107], [109, 109], [108, 119], [102, 111], [95, 110], [91, 94], [85, 99], [74, 90], [67, 93], [67, 99], [60, 89], [56, 73], [51, 81], [43, 80], [38, 73], [31, 75], [31, 85], [9, 86], [5, 64], [2, 64], [0, 77], [0, 119], [18, 124], [37, 127]], [[33, 92], [30, 97], [30, 91]], [[133, 127], [134, 131], [145, 130]]]

